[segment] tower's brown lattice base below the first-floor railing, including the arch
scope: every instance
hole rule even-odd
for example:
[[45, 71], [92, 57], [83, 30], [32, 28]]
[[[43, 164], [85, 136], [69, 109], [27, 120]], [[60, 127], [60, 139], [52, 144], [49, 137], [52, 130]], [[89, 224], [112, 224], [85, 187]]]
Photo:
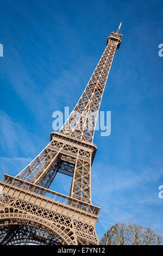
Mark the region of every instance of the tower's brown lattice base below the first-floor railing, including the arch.
[[[3, 185], [0, 244], [98, 245], [97, 206], [67, 196], [68, 202], [73, 201], [72, 205], [66, 204], [29, 191], [27, 187], [15, 186], [15, 183], [0, 184]], [[75, 201], [84, 204], [86, 209], [74, 206]]]

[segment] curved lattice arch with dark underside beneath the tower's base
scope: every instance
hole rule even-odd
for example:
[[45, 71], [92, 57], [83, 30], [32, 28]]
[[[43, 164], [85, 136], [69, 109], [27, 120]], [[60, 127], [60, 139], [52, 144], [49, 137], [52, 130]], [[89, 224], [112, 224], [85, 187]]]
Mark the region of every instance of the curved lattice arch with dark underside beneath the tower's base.
[[[22, 218], [9, 218], [0, 221], [0, 245], [16, 245], [20, 243], [35, 243], [37, 245], [77, 245], [68, 237], [68, 231], [58, 229], [58, 233], [52, 228], [41, 224], [39, 221], [31, 221]], [[21, 217], [21, 214], [19, 214]], [[47, 223], [48, 225], [48, 223]], [[66, 234], [67, 233], [67, 234]]]

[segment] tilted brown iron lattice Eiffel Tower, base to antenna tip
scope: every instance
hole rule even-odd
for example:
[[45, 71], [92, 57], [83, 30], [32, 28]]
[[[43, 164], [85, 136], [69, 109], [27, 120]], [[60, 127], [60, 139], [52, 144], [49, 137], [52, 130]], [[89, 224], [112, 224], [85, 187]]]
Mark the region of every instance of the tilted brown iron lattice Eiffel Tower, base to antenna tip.
[[[90, 81], [59, 132], [16, 176], [0, 181], [0, 244], [98, 245], [99, 208], [91, 203], [93, 136], [120, 26], [111, 32]], [[49, 189], [57, 173], [72, 177], [70, 196]]]

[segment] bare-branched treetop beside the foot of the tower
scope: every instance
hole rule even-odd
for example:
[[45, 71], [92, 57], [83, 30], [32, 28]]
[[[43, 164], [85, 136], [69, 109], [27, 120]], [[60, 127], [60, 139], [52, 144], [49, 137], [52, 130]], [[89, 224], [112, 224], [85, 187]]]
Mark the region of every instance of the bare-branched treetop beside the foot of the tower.
[[116, 231], [103, 236], [100, 245], [161, 245], [163, 236], [135, 223], [116, 223]]

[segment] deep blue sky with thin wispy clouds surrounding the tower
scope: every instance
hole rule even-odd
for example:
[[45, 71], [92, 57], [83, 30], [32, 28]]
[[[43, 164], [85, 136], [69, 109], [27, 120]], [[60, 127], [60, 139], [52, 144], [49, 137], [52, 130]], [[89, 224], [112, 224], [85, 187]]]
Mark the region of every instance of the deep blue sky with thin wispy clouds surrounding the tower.
[[[73, 109], [123, 21], [101, 105], [111, 111], [111, 135], [94, 138], [99, 239], [118, 221], [163, 233], [162, 10], [162, 0], [1, 1], [1, 176], [16, 175], [48, 144], [52, 113]], [[69, 194], [70, 186], [58, 174], [51, 188]]]

